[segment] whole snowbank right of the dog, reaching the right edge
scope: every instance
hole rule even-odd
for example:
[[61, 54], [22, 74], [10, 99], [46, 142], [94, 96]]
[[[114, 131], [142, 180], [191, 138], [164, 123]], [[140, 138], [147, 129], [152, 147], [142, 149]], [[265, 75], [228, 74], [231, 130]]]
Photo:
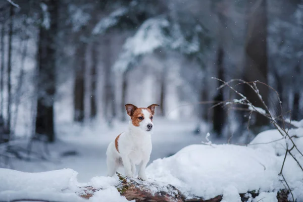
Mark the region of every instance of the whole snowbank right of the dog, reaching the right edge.
[[[296, 134], [298, 138], [295, 143], [303, 148], [303, 138], [299, 138], [301, 132], [293, 130], [289, 134]], [[187, 198], [199, 196], [209, 199], [223, 194], [226, 201], [230, 201], [230, 198], [238, 201], [237, 193], [252, 190], [274, 192], [285, 188], [278, 174], [287, 139], [267, 144], [256, 143], [281, 137], [277, 130], [269, 130], [260, 133], [251, 142], [254, 145], [190, 145], [171, 157], [151, 163], [146, 169], [147, 177], [151, 181], [176, 186]], [[303, 158], [298, 155], [296, 158], [303, 164]], [[300, 191], [303, 190], [303, 172], [290, 156], [286, 159], [283, 175], [295, 197], [303, 200]]]

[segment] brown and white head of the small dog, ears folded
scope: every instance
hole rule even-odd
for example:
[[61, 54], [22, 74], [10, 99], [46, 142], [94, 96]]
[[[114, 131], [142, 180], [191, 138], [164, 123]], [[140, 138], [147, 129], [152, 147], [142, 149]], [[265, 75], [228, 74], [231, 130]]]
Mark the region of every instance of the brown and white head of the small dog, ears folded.
[[155, 107], [159, 106], [153, 104], [147, 108], [137, 108], [132, 104], [126, 104], [125, 108], [128, 116], [131, 118], [132, 125], [139, 127], [143, 131], [153, 130], [153, 117], [155, 114]]

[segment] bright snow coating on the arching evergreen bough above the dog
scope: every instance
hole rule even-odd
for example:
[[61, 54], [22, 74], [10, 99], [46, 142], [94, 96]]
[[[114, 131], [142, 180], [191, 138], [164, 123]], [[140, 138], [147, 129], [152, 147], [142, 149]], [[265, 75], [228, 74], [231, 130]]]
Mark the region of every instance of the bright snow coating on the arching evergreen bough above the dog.
[[190, 34], [187, 32], [188, 30], [182, 29], [179, 22], [170, 21], [163, 15], [146, 20], [124, 43], [114, 69], [125, 72], [141, 56], [153, 53], [158, 48], [170, 49], [184, 55], [195, 55], [201, 59], [205, 47], [204, 29], [196, 24]]

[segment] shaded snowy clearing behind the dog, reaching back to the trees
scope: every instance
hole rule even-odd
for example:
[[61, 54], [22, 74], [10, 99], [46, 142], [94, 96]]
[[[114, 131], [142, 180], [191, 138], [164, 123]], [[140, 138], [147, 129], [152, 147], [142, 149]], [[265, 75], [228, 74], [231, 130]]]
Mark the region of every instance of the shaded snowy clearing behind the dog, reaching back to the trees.
[[[155, 118], [154, 122], [153, 151], [149, 163], [173, 155], [184, 146], [205, 141], [205, 135], [192, 133], [196, 126], [194, 121], [169, 121]], [[14, 161], [13, 168], [24, 172], [71, 168], [79, 173], [78, 181], [80, 182], [88, 182], [94, 176], [105, 176], [106, 148], [110, 141], [127, 128], [127, 124], [127, 122], [115, 122], [114, 128], [110, 129], [106, 123], [96, 123], [85, 127], [61, 123], [57, 129], [60, 135], [58, 135], [59, 140], [49, 145], [54, 161]], [[67, 151], [76, 151], [77, 154], [62, 157], [62, 154]]]

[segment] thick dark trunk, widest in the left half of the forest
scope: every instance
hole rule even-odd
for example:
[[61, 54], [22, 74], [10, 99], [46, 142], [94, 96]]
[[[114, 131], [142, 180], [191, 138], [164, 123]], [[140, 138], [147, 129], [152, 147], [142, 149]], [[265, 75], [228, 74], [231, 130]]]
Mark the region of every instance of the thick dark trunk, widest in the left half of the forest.
[[[38, 42], [38, 100], [35, 132], [55, 141], [54, 97], [56, 92], [56, 35], [58, 31], [57, 0], [42, 1], [49, 13], [49, 27], [40, 25]], [[41, 11], [42, 12], [42, 11]], [[42, 15], [43, 16], [43, 15]]]

